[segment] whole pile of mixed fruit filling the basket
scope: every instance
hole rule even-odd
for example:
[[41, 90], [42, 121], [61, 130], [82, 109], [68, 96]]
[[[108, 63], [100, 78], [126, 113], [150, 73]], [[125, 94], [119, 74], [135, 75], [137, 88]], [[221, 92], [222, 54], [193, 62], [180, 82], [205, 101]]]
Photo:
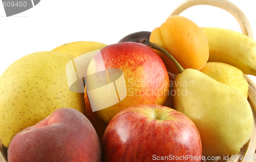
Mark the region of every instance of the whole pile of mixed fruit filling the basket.
[[226, 158], [252, 134], [244, 74], [255, 65], [253, 39], [183, 16], [116, 44], [63, 44], [0, 77], [0, 140], [8, 161]]

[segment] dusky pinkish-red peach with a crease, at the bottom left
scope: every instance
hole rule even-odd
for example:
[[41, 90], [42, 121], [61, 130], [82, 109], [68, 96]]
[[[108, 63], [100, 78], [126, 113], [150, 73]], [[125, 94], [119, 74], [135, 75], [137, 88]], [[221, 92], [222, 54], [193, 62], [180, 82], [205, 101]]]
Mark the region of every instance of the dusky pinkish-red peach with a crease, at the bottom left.
[[8, 161], [101, 161], [100, 142], [81, 112], [59, 108], [13, 137]]

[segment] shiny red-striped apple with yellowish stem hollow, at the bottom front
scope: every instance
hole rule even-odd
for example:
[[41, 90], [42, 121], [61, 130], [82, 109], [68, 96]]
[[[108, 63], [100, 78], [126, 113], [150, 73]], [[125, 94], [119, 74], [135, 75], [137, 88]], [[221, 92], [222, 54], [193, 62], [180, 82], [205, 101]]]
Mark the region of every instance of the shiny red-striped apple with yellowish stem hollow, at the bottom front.
[[115, 115], [102, 137], [103, 161], [201, 161], [199, 131], [186, 115], [137, 105]]

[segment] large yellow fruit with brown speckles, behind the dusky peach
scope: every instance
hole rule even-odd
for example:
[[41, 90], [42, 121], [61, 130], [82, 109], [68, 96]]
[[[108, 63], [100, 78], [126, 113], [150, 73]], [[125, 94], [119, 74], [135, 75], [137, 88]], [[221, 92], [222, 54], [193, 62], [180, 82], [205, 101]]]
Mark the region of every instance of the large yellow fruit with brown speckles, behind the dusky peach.
[[85, 112], [83, 95], [70, 91], [66, 64], [58, 52], [36, 52], [13, 62], [0, 77], [0, 140], [35, 125], [54, 110], [70, 107]]

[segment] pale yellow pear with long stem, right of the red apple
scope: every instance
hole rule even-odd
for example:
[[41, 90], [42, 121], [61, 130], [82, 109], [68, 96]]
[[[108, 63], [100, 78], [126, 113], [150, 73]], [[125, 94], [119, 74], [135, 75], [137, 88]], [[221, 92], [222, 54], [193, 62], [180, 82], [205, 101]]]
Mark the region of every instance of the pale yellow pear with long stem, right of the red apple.
[[245, 96], [204, 73], [186, 69], [175, 79], [174, 108], [197, 126], [203, 154], [237, 154], [252, 133], [253, 117]]

